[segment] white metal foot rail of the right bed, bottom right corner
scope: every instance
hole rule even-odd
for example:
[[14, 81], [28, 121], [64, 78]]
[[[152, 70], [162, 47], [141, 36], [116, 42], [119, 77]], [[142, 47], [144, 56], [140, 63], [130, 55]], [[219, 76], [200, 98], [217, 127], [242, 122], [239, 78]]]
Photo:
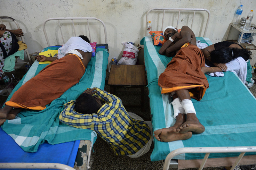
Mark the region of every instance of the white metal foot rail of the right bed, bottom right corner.
[[208, 159], [208, 156], [210, 153], [231, 153], [231, 152], [240, 152], [240, 155], [238, 156], [237, 160], [235, 160], [234, 164], [232, 165], [230, 170], [234, 170], [235, 167], [237, 167], [238, 163], [243, 158], [243, 155], [245, 155], [246, 152], [256, 152], [256, 146], [236, 146], [236, 147], [183, 147], [176, 149], [172, 152], [170, 152], [165, 159], [165, 164], [163, 165], [163, 169], [167, 170], [170, 166], [171, 159], [174, 158], [174, 156], [177, 156], [179, 154], [183, 153], [206, 153], [205, 157], [203, 158], [203, 161], [200, 165], [199, 170], [202, 170], [205, 166], [205, 163]]

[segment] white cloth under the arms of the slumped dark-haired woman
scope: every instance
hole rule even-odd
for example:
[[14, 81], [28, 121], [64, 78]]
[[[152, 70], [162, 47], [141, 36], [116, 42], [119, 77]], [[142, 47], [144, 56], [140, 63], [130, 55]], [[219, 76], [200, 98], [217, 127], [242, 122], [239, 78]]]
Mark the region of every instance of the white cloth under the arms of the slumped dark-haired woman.
[[[247, 63], [242, 57], [235, 58], [231, 60], [230, 62], [226, 63], [227, 70], [231, 71], [238, 75], [238, 77], [242, 80], [243, 83], [245, 83], [246, 75], [247, 75]], [[205, 67], [209, 67], [205, 64]], [[215, 76], [215, 77], [223, 77], [224, 73], [222, 72], [215, 72], [215, 73], [209, 73], [209, 76]]]

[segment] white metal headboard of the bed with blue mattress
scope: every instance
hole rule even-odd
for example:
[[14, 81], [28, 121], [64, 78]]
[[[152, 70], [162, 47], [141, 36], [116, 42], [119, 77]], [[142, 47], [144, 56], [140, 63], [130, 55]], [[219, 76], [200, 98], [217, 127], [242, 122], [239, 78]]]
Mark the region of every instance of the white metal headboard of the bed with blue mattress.
[[[75, 27], [74, 27], [74, 20], [87, 20], [87, 26], [88, 26], [88, 32], [89, 32], [89, 39], [91, 41], [91, 34], [90, 34], [90, 26], [89, 26], [89, 22], [88, 20], [97, 20], [99, 22], [101, 22], [101, 24], [103, 25], [103, 28], [104, 28], [104, 34], [105, 34], [105, 43], [107, 44], [107, 31], [106, 31], [106, 26], [105, 24], [102, 22], [101, 19], [98, 19], [98, 18], [95, 18], [95, 17], [59, 17], [59, 18], [48, 18], [45, 20], [45, 22], [43, 22], [43, 33], [45, 34], [45, 39], [46, 39], [46, 42], [47, 42], [47, 45], [50, 46], [50, 43], [49, 43], [49, 39], [48, 39], [48, 35], [46, 33], [46, 29], [45, 29], [45, 24], [50, 21], [50, 20], [58, 20], [58, 25], [59, 25], [59, 30], [61, 31], [61, 37], [62, 37], [62, 41], [63, 41], [63, 44], [65, 43], [64, 41], [64, 37], [63, 37], [63, 33], [62, 33], [62, 29], [61, 29], [61, 24], [59, 22], [59, 20], [71, 20], [72, 21], [72, 26], [73, 26], [73, 30], [74, 30], [74, 35], [76, 35], [75, 33]], [[109, 49], [108, 49], [109, 50]], [[110, 62], [108, 61], [107, 62], [107, 66], [109, 68], [109, 73], [110, 73]]]

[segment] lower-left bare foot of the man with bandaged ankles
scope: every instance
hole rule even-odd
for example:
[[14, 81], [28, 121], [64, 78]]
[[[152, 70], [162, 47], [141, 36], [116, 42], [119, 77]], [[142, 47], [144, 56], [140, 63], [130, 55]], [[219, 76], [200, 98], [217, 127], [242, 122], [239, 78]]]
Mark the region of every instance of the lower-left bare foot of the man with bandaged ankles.
[[169, 128], [163, 128], [158, 129], [154, 131], [154, 137], [158, 141], [161, 142], [172, 142], [172, 141], [179, 141], [179, 140], [186, 140], [191, 138], [192, 132], [189, 131], [187, 133], [174, 133], [174, 130], [176, 130], [177, 127], [169, 127]]

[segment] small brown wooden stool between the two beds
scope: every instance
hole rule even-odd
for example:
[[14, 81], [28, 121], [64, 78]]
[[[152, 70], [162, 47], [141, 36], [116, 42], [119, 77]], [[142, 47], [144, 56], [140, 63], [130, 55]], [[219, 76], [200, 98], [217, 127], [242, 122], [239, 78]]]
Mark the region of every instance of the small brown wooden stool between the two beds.
[[141, 105], [126, 105], [125, 107], [141, 106], [144, 111], [144, 86], [147, 85], [144, 65], [112, 65], [108, 85], [110, 85], [111, 94], [117, 87], [141, 88]]

